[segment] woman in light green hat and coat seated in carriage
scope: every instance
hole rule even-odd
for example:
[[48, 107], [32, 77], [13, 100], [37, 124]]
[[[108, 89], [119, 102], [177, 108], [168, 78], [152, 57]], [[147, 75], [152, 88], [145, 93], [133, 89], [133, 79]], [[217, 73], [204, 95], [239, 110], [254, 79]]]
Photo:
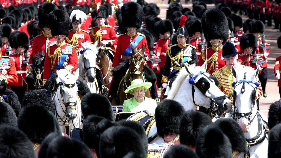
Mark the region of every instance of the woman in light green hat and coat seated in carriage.
[[142, 79], [134, 79], [125, 93], [133, 94], [134, 97], [124, 101], [122, 112], [138, 112], [142, 110], [155, 111], [156, 100], [145, 97], [145, 91], [152, 83], [143, 82]]

